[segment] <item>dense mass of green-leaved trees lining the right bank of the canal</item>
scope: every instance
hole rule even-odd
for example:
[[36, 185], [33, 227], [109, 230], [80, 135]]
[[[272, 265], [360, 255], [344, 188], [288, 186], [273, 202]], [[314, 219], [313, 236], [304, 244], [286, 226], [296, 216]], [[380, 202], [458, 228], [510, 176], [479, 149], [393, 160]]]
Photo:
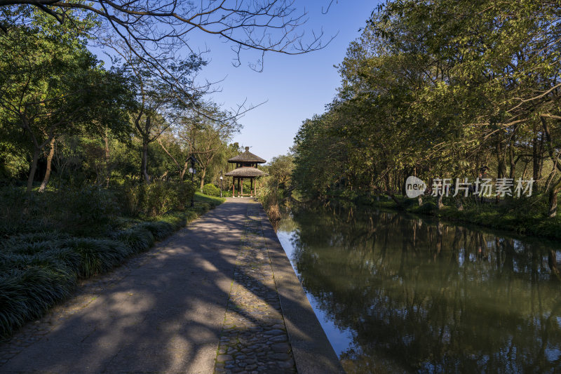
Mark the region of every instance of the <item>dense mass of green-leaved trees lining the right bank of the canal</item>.
[[534, 180], [530, 197], [493, 192], [487, 200], [496, 204], [474, 205], [472, 196], [438, 194], [434, 203], [447, 203], [440, 215], [556, 235], [560, 22], [549, 1], [406, 0], [377, 8], [338, 66], [336, 97], [296, 135], [292, 181], [304, 200], [397, 200], [410, 175], [428, 189], [438, 178], [452, 186], [456, 178], [488, 178], [494, 191], [499, 180], [514, 187]]

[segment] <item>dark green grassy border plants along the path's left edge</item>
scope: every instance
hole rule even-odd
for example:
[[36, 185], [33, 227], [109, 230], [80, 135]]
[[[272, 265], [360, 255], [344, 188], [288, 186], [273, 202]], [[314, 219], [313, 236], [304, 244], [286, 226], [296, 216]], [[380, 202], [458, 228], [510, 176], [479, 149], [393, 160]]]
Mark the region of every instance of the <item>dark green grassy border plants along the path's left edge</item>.
[[[0, 243], [0, 338], [7, 340], [27, 321], [39, 319], [48, 309], [72, 294], [81, 279], [109, 271], [127, 258], [150, 248], [175, 230], [206, 213], [224, 200], [196, 196], [194, 208], [139, 221], [104, 237], [74, 237], [38, 232], [21, 234]], [[46, 333], [46, 326], [32, 328]], [[15, 339], [17, 347], [31, 344], [36, 336]], [[9, 359], [3, 352], [0, 364]]]

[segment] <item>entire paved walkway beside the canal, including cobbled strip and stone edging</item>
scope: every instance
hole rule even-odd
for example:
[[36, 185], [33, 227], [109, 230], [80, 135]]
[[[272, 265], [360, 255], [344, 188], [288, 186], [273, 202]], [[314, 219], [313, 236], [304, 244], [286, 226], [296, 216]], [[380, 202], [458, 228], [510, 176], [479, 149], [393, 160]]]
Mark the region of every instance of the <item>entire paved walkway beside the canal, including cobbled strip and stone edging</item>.
[[229, 199], [28, 323], [0, 373], [339, 372], [271, 232], [259, 203]]

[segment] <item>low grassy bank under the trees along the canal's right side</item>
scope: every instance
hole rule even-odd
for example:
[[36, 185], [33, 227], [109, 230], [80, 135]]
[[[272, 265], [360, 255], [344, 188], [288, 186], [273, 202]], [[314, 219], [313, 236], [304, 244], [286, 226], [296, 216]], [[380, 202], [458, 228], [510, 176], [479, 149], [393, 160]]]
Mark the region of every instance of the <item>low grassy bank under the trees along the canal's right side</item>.
[[405, 211], [414, 215], [430, 215], [451, 222], [469, 223], [499, 229], [513, 234], [541, 236], [553, 240], [561, 240], [561, 217], [547, 218], [536, 209], [539, 202], [520, 199], [519, 201], [501, 201], [500, 203], [478, 203], [474, 200], [464, 202], [462, 208], [457, 207], [453, 199], [445, 200], [445, 206], [436, 208], [436, 201], [432, 196], [423, 197], [423, 205], [419, 206], [417, 199], [396, 196], [396, 200], [389, 196], [380, 199], [358, 199], [358, 206], [374, 208], [388, 208]]

